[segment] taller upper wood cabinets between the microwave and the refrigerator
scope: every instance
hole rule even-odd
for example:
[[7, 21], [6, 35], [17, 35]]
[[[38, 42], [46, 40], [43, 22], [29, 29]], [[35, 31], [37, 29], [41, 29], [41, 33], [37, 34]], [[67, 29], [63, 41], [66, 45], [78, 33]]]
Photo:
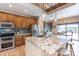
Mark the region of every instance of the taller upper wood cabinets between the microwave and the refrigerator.
[[30, 19], [27, 17], [15, 17], [15, 27], [16, 28], [30, 28], [31, 25], [35, 24], [37, 20]]

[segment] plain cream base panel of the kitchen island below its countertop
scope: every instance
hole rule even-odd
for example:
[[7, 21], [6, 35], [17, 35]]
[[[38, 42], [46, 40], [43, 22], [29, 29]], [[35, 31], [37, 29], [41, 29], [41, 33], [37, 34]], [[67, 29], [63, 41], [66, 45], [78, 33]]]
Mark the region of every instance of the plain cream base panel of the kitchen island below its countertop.
[[41, 56], [41, 49], [33, 45], [31, 42], [26, 41], [26, 55], [27, 56]]

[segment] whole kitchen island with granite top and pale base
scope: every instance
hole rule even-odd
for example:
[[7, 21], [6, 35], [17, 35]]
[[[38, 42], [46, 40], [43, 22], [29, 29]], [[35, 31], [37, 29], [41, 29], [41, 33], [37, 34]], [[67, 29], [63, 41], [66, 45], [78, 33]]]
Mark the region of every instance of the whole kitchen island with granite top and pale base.
[[25, 37], [26, 53], [28, 56], [58, 56], [59, 51], [68, 40], [58, 40], [53, 37]]

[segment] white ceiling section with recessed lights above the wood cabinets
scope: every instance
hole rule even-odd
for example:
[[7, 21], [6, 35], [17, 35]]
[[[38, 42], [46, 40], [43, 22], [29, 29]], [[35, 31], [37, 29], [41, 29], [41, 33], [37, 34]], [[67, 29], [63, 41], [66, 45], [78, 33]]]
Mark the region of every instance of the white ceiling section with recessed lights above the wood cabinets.
[[[9, 7], [9, 5], [12, 5], [12, 7]], [[27, 11], [25, 12], [25, 10]], [[30, 3], [0, 3], [0, 11], [22, 16], [40, 16], [43, 10]]]

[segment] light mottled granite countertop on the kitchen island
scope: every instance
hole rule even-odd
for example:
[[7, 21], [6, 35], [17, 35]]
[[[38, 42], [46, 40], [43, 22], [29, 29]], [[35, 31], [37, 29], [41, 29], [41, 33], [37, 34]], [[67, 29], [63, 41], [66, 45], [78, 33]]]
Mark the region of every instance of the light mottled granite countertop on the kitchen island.
[[49, 54], [59, 51], [68, 40], [58, 40], [54, 37], [25, 37], [27, 41], [35, 45], [37, 48], [48, 52]]

